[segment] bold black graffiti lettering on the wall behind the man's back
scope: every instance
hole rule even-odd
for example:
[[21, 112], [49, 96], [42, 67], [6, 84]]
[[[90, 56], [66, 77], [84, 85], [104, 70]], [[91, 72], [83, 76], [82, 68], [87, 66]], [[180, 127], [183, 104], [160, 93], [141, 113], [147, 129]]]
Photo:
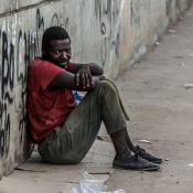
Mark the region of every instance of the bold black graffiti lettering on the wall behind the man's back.
[[34, 21], [34, 28], [29, 30], [20, 26], [18, 18], [0, 26], [0, 159], [9, 154], [11, 132], [15, 130], [13, 127], [17, 127], [17, 135], [20, 135], [20, 144], [24, 141], [28, 66], [31, 58], [41, 54], [45, 21], [47, 26], [58, 25], [61, 15], [54, 13], [47, 23], [37, 9]]

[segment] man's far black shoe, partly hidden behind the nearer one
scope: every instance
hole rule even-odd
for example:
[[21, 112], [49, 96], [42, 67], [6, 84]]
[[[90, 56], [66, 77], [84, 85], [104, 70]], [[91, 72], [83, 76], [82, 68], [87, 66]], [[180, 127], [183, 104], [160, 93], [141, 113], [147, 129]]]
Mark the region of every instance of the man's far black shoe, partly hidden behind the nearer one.
[[148, 153], [144, 149], [140, 148], [139, 146], [136, 146], [135, 153], [139, 154], [141, 158], [153, 162], [153, 163], [161, 163], [162, 159], [153, 157], [152, 154]]

